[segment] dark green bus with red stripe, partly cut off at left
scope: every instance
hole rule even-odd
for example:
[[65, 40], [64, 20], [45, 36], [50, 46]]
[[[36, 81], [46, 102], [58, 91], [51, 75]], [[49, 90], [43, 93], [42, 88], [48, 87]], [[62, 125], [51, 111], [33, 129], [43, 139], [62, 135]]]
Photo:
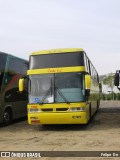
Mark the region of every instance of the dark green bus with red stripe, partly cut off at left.
[[27, 61], [0, 52], [0, 123], [27, 116], [27, 92], [20, 93], [19, 79], [27, 74]]

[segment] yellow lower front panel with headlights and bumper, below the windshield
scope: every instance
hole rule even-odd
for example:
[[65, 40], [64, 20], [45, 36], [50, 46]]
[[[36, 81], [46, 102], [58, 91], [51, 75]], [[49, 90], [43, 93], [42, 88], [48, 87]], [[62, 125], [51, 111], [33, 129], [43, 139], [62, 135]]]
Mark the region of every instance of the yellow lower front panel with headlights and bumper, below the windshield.
[[[89, 104], [85, 102], [43, 104], [42, 106], [30, 104], [27, 108], [29, 124], [86, 124], [90, 119]], [[72, 111], [76, 108], [81, 111]]]

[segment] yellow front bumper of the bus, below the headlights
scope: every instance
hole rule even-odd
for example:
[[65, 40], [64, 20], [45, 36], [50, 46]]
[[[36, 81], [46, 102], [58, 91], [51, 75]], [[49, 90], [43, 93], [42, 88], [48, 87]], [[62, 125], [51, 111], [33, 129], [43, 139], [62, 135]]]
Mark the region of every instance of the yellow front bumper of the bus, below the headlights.
[[28, 114], [29, 124], [87, 124], [89, 117], [86, 112], [70, 113], [36, 113]]

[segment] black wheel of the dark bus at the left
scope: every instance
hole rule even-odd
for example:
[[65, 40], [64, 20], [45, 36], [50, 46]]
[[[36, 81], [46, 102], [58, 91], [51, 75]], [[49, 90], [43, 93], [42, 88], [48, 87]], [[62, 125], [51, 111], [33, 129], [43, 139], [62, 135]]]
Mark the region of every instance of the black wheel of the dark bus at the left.
[[9, 109], [6, 109], [3, 114], [3, 125], [7, 126], [12, 121], [12, 112]]

